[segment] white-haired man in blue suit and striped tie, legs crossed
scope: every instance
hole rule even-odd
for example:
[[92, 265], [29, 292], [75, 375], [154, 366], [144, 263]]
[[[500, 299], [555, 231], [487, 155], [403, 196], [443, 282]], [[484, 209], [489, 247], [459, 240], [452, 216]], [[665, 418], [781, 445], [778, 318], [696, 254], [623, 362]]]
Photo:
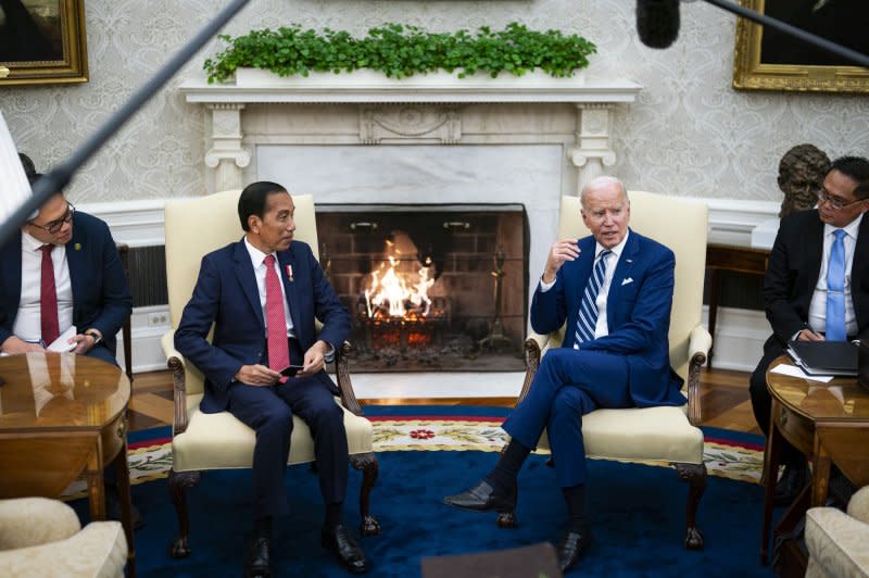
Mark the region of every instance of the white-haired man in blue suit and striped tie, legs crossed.
[[504, 422], [512, 439], [495, 468], [444, 499], [471, 512], [513, 511], [518, 472], [546, 429], [567, 503], [568, 528], [557, 548], [563, 571], [591, 544], [582, 416], [599, 407], [685, 403], [667, 339], [672, 251], [628, 228], [630, 201], [619, 180], [593, 179], [581, 203], [592, 235], [552, 246], [531, 302], [534, 331], [555, 331], [567, 322], [564, 343], [546, 353], [528, 394]]

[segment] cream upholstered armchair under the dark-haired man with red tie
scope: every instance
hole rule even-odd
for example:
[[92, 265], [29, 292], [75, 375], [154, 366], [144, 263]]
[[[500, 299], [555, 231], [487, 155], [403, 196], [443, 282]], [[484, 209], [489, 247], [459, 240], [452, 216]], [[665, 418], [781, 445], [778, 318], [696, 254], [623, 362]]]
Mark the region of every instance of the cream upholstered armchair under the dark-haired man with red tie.
[[[200, 473], [207, 469], [250, 468], [253, 464], [255, 435], [229, 412], [205, 414], [199, 411], [203, 395], [202, 374], [175, 350], [174, 329], [190, 300], [199, 276], [202, 256], [237, 241], [243, 235], [238, 218], [240, 190], [229, 190], [206, 197], [169, 201], [165, 209], [166, 280], [173, 330], [162, 339], [163, 352], [175, 386], [175, 424], [172, 437], [173, 464], [169, 470], [169, 492], [178, 514], [180, 532], [172, 544], [172, 554], [182, 557], [190, 553], [187, 488], [199, 482]], [[311, 246], [318, 255], [314, 200], [310, 194], [293, 194], [295, 204], [294, 238]], [[350, 463], [362, 469], [360, 492], [362, 533], [374, 535], [380, 527], [368, 511], [368, 497], [377, 479], [378, 462], [371, 451], [371, 424], [362, 415], [350, 381], [344, 343], [336, 354], [336, 374], [340, 400], [344, 410]], [[307, 425], [293, 416], [288, 464], [314, 462], [314, 440]]]

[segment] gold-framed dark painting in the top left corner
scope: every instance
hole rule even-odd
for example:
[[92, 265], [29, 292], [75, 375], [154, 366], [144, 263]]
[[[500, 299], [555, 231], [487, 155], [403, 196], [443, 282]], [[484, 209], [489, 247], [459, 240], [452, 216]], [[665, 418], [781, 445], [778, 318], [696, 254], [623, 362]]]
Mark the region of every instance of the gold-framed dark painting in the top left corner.
[[85, 0], [0, 0], [0, 85], [87, 79]]

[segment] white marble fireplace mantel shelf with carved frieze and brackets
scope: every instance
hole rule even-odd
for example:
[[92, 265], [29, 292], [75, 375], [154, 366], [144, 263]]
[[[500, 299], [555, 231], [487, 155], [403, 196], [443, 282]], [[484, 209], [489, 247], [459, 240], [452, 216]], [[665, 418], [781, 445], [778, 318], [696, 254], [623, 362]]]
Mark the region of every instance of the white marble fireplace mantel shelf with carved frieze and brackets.
[[565, 175], [568, 186], [562, 192], [577, 193], [615, 163], [614, 111], [633, 102], [641, 89], [625, 79], [541, 74], [459, 79], [444, 73], [394, 80], [376, 73], [310, 78], [248, 73], [252, 77], [237, 84], [197, 79], [179, 87], [188, 103], [206, 111], [204, 162], [211, 191], [240, 188], [245, 176], [256, 177], [255, 169], [245, 171], [264, 143], [545, 142], [564, 147], [564, 172], [572, 174]]

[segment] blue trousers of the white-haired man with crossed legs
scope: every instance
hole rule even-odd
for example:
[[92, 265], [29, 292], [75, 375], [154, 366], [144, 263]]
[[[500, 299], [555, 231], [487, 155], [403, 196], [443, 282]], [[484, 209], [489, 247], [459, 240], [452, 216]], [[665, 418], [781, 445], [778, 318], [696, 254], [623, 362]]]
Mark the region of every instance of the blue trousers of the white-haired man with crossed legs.
[[543, 428], [563, 488], [584, 483], [582, 416], [599, 407], [632, 407], [628, 363], [600, 351], [552, 349], [543, 357], [528, 395], [502, 426], [526, 448], [537, 448]]

